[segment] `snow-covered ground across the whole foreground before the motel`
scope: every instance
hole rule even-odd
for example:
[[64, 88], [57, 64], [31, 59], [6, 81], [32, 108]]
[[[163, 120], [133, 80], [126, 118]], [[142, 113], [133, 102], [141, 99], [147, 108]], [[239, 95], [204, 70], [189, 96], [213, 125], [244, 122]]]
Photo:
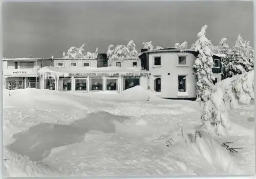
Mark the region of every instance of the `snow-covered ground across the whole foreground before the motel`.
[[[121, 94], [5, 90], [5, 175], [254, 174], [253, 103], [228, 111], [228, 137], [195, 139], [196, 101], [160, 99], [139, 86]], [[242, 149], [230, 154], [223, 142]]]

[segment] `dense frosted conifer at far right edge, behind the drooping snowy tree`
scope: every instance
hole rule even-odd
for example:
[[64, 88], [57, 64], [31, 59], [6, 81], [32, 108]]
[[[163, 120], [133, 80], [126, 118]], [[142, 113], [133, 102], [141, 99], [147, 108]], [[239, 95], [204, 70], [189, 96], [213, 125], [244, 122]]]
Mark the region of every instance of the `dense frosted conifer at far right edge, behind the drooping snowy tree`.
[[249, 41], [244, 41], [241, 35], [239, 35], [236, 44], [231, 50], [227, 65], [227, 75], [230, 77], [252, 70], [254, 67], [253, 56], [253, 50], [249, 45]]

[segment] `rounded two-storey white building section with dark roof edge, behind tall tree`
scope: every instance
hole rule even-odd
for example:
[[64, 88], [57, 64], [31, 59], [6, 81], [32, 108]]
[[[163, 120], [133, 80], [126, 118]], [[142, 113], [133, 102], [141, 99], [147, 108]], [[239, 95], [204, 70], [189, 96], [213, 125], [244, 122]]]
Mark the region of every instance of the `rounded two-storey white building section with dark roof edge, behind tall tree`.
[[[196, 99], [193, 65], [198, 53], [191, 49], [142, 50], [141, 67], [149, 72], [148, 89], [168, 99]], [[219, 55], [220, 56], [220, 55]], [[221, 57], [214, 55], [215, 82], [221, 81]]]

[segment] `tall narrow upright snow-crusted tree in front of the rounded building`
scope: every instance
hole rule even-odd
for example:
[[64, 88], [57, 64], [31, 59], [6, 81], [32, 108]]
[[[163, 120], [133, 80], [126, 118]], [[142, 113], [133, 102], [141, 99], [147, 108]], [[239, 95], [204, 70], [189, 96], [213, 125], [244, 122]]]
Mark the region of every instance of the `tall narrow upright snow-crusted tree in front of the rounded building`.
[[196, 72], [197, 78], [197, 100], [207, 101], [210, 97], [211, 88], [214, 86], [215, 80], [212, 68], [214, 62], [212, 59], [213, 53], [211, 52], [210, 46], [212, 45], [210, 40], [205, 37], [207, 25], [202, 27], [201, 31], [197, 34], [199, 39], [195, 42], [195, 51], [199, 52], [199, 55], [193, 66]]

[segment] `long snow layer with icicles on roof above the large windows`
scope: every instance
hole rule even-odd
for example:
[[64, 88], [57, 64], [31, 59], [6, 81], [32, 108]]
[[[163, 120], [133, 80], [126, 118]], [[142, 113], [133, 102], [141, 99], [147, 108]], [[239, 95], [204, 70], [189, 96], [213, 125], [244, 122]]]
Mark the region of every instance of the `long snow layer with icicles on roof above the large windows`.
[[46, 66], [42, 67], [38, 70], [39, 74], [46, 74], [51, 73], [59, 76], [68, 76], [69, 74], [86, 74], [86, 73], [109, 73], [111, 74], [141, 74], [146, 73], [146, 71], [141, 70], [139, 68], [122, 68], [122, 67], [116, 67], [116, 66], [110, 66], [110, 67], [69, 67], [69, 68], [57, 68], [52, 66]]

